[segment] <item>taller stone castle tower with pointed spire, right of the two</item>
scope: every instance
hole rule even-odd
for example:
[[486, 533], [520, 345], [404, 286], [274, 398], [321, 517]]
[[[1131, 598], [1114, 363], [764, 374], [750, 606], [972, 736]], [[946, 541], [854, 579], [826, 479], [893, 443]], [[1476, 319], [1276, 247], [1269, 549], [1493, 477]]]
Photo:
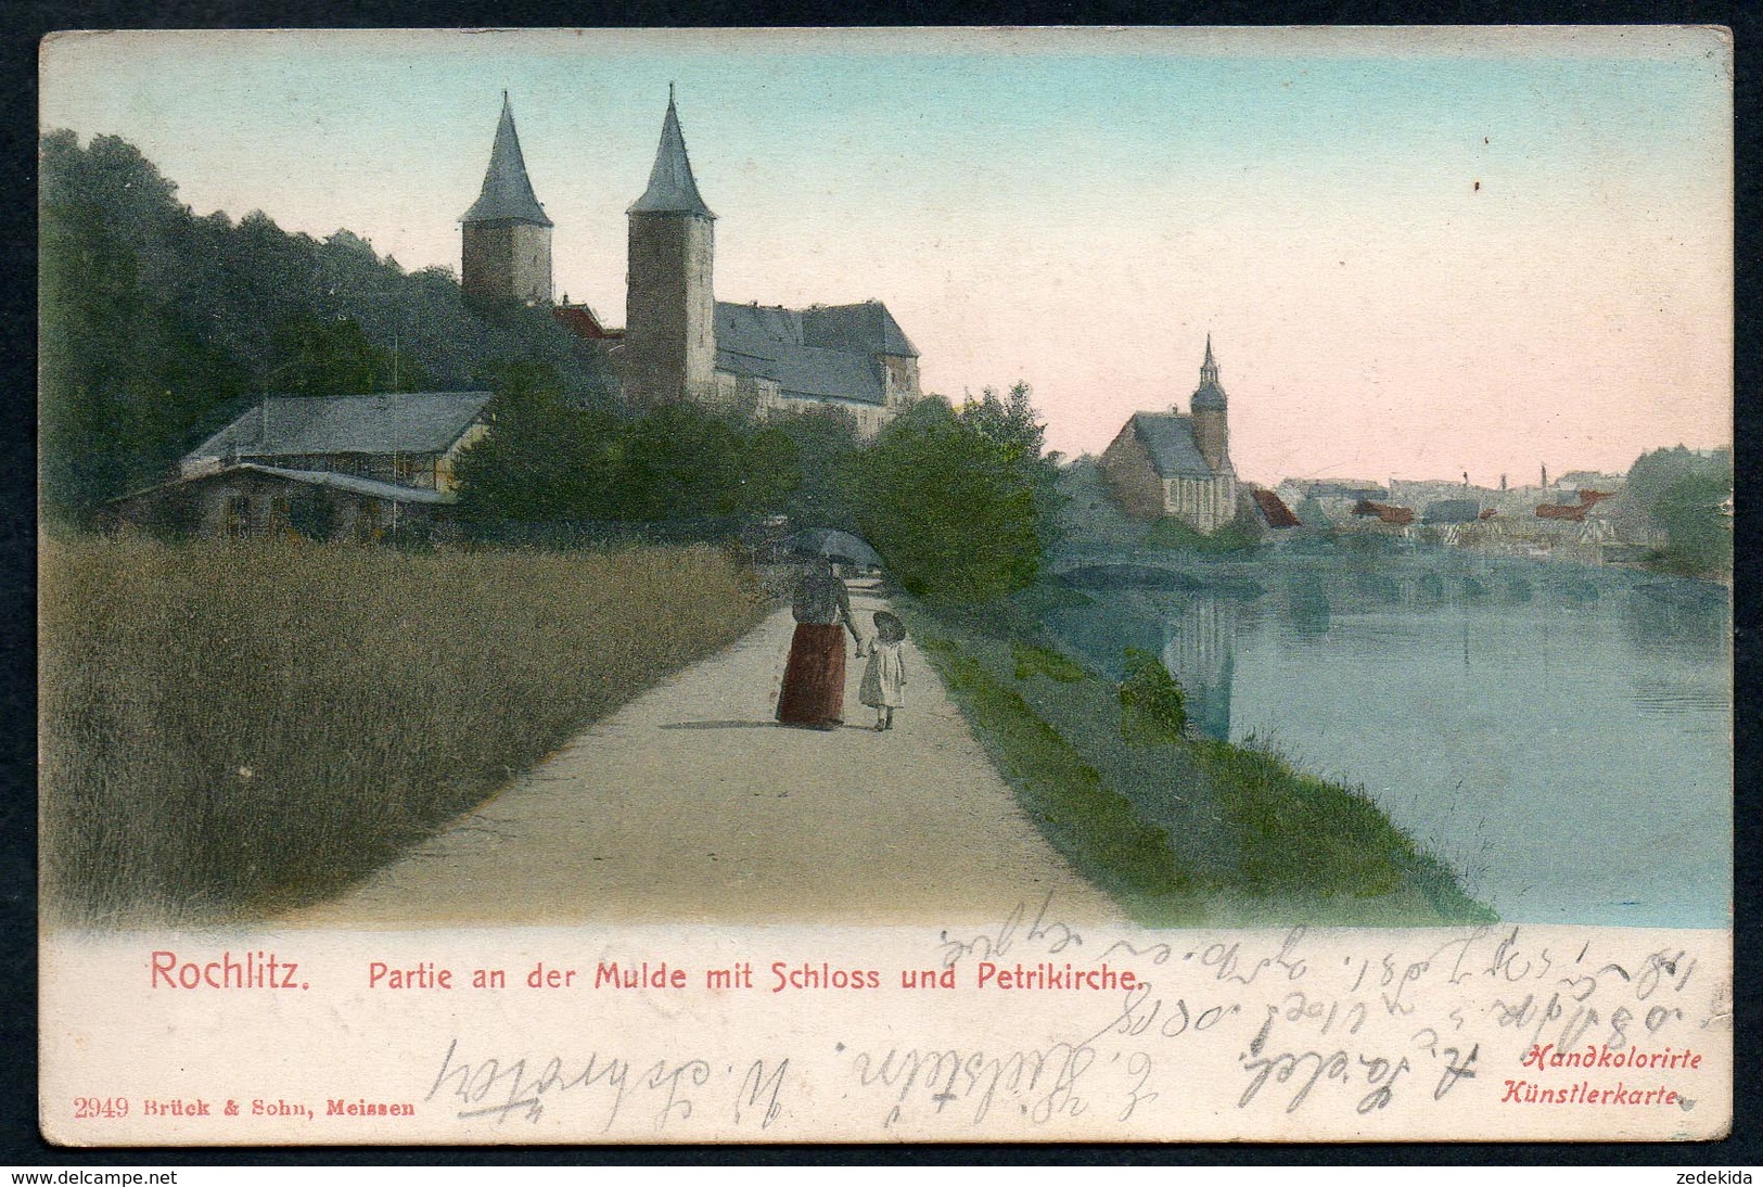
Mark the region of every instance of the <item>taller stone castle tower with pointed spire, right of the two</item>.
[[624, 399], [636, 409], [705, 400], [716, 370], [716, 215], [691, 176], [672, 85], [649, 189], [626, 213]]

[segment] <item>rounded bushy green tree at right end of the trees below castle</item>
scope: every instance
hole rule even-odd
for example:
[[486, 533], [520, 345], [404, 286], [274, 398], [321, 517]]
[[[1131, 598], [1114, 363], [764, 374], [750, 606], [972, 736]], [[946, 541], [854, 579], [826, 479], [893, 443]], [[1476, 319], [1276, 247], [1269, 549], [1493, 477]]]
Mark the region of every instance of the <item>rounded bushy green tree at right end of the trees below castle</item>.
[[1047, 527], [1019, 443], [940, 397], [919, 400], [853, 459], [857, 520], [908, 593], [989, 601], [1035, 580]]

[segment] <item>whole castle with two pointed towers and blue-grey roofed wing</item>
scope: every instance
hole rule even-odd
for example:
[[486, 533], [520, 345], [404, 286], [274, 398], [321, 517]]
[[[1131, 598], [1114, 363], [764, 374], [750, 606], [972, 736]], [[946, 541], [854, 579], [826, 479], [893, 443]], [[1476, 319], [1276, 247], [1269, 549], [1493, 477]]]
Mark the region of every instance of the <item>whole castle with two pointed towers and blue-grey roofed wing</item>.
[[465, 300], [554, 307], [608, 346], [638, 411], [681, 402], [751, 416], [841, 409], [873, 437], [919, 399], [919, 353], [882, 302], [785, 309], [716, 300], [716, 215], [691, 173], [672, 86], [649, 185], [626, 219], [617, 332], [585, 307], [554, 302], [554, 228], [527, 178], [504, 93], [483, 190], [460, 219]]

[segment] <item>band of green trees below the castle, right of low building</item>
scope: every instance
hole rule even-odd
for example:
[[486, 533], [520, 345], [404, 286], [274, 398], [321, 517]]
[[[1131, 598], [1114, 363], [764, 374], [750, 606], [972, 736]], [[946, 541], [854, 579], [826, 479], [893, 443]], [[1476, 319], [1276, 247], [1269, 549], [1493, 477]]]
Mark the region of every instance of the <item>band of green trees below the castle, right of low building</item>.
[[989, 601], [1033, 580], [1053, 538], [1054, 459], [1026, 384], [956, 413], [927, 397], [873, 446], [837, 411], [767, 420], [668, 406], [642, 416], [568, 399], [545, 367], [511, 367], [492, 432], [458, 464], [483, 526], [592, 522], [725, 531], [785, 517], [859, 531], [906, 589]]

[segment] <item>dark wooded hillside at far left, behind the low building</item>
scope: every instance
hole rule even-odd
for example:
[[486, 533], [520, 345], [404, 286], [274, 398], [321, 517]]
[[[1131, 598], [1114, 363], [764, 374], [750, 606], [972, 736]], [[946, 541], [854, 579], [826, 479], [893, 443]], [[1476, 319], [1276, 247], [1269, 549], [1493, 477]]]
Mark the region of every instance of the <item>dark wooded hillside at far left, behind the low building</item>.
[[575, 400], [601, 353], [539, 310], [474, 312], [444, 268], [405, 273], [349, 231], [196, 215], [132, 145], [41, 141], [42, 492], [58, 519], [164, 476], [261, 392], [488, 386], [543, 362]]

